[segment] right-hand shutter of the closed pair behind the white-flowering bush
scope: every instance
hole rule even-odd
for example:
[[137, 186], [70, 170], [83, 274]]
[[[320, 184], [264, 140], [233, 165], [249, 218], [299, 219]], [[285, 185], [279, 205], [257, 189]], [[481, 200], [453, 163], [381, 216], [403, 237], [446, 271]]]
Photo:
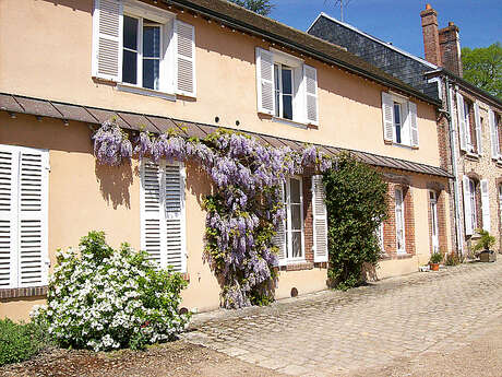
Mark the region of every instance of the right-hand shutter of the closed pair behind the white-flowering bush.
[[167, 164], [165, 176], [166, 263], [186, 272], [184, 167]]

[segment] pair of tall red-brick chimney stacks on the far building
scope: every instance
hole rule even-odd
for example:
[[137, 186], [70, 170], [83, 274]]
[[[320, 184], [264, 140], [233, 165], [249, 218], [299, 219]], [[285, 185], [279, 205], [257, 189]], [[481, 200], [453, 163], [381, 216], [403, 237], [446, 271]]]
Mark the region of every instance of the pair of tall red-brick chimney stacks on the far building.
[[462, 78], [461, 38], [458, 27], [450, 22], [444, 28], [438, 30], [438, 12], [430, 4], [420, 12], [422, 19], [423, 49], [426, 60], [444, 67]]

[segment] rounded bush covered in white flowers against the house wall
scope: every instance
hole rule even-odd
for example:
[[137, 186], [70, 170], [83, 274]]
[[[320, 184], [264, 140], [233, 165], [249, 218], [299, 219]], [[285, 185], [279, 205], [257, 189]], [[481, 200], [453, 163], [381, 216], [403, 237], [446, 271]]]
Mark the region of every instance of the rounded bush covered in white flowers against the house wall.
[[158, 269], [128, 244], [113, 250], [103, 232], [81, 239], [80, 256], [58, 251], [47, 306], [35, 307], [35, 321], [48, 325], [67, 347], [109, 351], [142, 349], [172, 340], [190, 314], [180, 314], [181, 274]]

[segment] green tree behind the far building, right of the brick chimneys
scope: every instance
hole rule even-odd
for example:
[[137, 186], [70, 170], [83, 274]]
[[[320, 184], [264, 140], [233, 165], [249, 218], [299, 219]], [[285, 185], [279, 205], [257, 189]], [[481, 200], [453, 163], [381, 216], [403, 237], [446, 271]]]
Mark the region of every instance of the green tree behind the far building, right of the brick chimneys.
[[462, 49], [464, 79], [502, 99], [502, 45]]

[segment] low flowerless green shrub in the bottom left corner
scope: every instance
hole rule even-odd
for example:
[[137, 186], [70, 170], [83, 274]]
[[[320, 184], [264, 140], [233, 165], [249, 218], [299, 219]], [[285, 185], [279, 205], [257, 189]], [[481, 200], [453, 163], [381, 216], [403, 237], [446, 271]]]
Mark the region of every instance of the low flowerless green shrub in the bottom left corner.
[[35, 355], [47, 344], [45, 329], [38, 325], [0, 319], [0, 365], [19, 363]]

